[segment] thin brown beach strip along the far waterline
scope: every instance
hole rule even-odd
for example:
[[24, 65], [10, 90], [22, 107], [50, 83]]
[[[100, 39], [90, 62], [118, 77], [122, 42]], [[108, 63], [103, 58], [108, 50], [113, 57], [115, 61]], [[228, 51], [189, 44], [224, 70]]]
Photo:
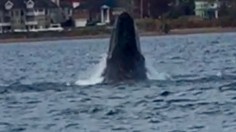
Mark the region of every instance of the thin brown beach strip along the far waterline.
[[[143, 32], [140, 36], [163, 36], [163, 35], [188, 35], [203, 33], [229, 33], [236, 32], [236, 28], [189, 28], [189, 29], [173, 29], [168, 34], [160, 32]], [[109, 38], [110, 34], [83, 35], [83, 36], [65, 36], [65, 37], [42, 37], [42, 38], [9, 38], [0, 39], [0, 44], [16, 43], [16, 42], [40, 42], [40, 41], [60, 41], [60, 40], [79, 40], [79, 39], [99, 39]]]

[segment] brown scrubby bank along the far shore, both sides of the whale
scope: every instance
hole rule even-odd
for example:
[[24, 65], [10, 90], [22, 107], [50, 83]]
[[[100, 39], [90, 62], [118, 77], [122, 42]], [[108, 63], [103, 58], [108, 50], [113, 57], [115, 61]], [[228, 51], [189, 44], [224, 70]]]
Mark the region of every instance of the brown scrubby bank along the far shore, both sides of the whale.
[[[186, 18], [178, 20], [142, 19], [136, 20], [136, 24], [140, 36], [236, 32], [236, 21], [232, 20], [229, 22], [227, 20], [225, 22], [226, 20], [194, 20]], [[12, 32], [0, 34], [0, 43], [109, 38], [111, 31], [112, 26], [92, 26], [65, 29], [60, 32]]]

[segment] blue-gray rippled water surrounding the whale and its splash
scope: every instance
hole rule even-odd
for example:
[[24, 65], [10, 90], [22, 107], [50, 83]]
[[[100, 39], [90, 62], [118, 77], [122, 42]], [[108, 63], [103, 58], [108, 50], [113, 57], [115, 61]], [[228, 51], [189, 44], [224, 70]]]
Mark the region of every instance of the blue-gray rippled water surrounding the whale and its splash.
[[236, 131], [236, 33], [144, 37], [144, 56], [169, 78], [75, 85], [108, 42], [0, 45], [0, 132]]

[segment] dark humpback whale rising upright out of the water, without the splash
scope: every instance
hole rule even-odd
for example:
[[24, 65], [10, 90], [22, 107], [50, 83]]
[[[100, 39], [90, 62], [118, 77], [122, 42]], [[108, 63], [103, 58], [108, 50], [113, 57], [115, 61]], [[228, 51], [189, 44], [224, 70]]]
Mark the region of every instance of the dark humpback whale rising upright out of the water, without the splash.
[[135, 22], [127, 12], [121, 13], [113, 26], [102, 76], [105, 83], [147, 79]]

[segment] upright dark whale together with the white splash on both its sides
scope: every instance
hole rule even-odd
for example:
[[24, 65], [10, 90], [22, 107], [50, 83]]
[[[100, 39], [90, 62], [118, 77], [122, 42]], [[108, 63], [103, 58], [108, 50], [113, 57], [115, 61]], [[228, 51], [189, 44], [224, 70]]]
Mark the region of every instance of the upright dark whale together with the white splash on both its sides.
[[[127, 28], [128, 27], [128, 28]], [[77, 85], [114, 84], [165, 80], [170, 75], [155, 70], [150, 59], [142, 55], [140, 37], [133, 18], [126, 12], [115, 21], [109, 39], [108, 52], [103, 54], [96, 66], [87, 69], [89, 76], [76, 81]]]

